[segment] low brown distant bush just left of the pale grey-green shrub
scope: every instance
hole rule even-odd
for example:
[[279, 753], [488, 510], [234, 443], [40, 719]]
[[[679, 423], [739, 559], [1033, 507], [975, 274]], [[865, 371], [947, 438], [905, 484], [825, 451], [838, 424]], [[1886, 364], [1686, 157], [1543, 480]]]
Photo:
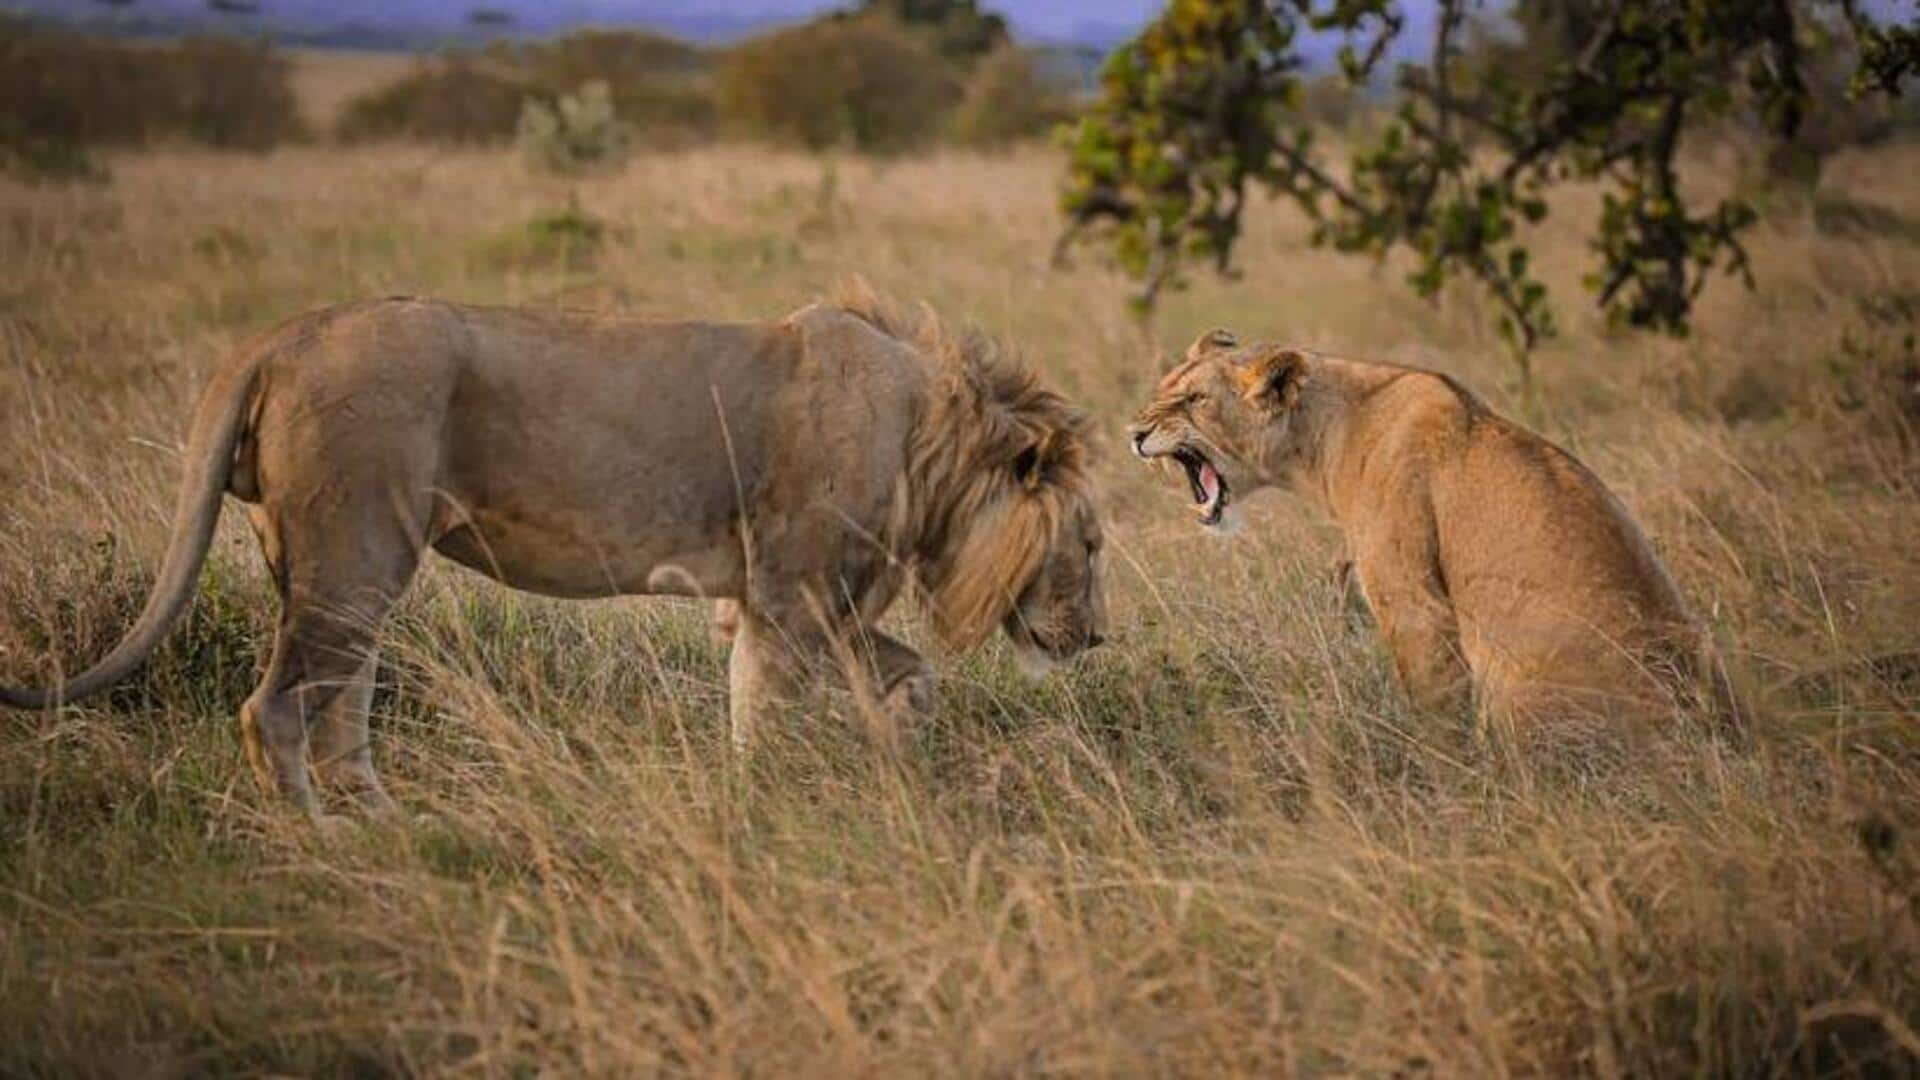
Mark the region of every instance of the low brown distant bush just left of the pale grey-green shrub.
[[493, 142], [515, 133], [520, 106], [530, 96], [538, 96], [538, 86], [528, 79], [468, 56], [451, 56], [424, 61], [348, 102], [336, 135], [348, 140]]

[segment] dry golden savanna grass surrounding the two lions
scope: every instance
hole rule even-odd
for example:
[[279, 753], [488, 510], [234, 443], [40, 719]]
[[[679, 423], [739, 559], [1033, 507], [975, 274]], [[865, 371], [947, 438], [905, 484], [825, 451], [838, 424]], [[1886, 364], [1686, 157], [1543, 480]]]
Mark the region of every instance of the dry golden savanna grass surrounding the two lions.
[[[113, 694], [0, 717], [0, 1074], [1914, 1074], [1920, 1070], [1920, 148], [1836, 160], [1690, 340], [1584, 307], [1540, 427], [1645, 525], [1759, 703], [1480, 738], [1415, 715], [1281, 496], [1204, 536], [1121, 425], [1198, 331], [1411, 361], [1515, 409], [1467, 292], [1256, 211], [1152, 327], [1048, 271], [1060, 158], [507, 150], [108, 158], [0, 181], [0, 676], [138, 609], [198, 384], [357, 296], [762, 317], [860, 273], [1018, 342], [1096, 417], [1114, 642], [1044, 682], [941, 661], [900, 749], [824, 696], [730, 761], [724, 653], [662, 600], [432, 563], [384, 638], [409, 821], [324, 838], [234, 711], [273, 590], [228, 513]], [[1732, 167], [1699, 160], [1699, 184]], [[910, 607], [895, 617], [925, 632]]]

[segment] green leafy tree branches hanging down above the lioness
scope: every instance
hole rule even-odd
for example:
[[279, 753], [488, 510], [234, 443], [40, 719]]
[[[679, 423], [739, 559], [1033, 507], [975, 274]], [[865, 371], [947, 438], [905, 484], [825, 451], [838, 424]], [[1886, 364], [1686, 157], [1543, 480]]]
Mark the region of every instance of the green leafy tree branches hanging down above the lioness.
[[[1524, 6], [1524, 0], [1521, 0]], [[1859, 86], [1899, 90], [1920, 69], [1920, 33], [1882, 27], [1859, 0], [1837, 8], [1860, 56]], [[1409, 281], [1434, 294], [1476, 281], [1523, 361], [1553, 332], [1546, 288], [1521, 233], [1548, 213], [1546, 188], [1601, 181], [1594, 250], [1601, 309], [1686, 332], [1715, 271], [1747, 275], [1740, 233], [1753, 211], [1692, 208], [1676, 160], [1688, 121], [1726, 110], [1740, 88], [1778, 133], [1799, 123], [1807, 88], [1799, 0], [1605, 0], [1569, 61], [1534, 83], [1475, 71], [1461, 46], [1473, 0], [1440, 0], [1425, 63], [1402, 65], [1400, 102], [1336, 169], [1298, 113], [1302, 33], [1342, 35], [1356, 90], [1377, 79], [1407, 21], [1398, 0], [1181, 0], [1121, 46], [1098, 104], [1071, 129], [1056, 254], [1089, 234], [1112, 242], [1150, 307], [1187, 258], [1231, 271], [1246, 184], [1300, 206], [1313, 238], [1346, 252], [1413, 256]]]

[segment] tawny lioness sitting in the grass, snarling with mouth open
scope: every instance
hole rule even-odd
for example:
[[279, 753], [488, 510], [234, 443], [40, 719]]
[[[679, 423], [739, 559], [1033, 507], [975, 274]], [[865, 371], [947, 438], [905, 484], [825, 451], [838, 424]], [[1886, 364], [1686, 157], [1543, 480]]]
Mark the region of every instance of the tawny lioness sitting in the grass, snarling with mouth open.
[[1732, 705], [1620, 502], [1446, 375], [1210, 331], [1129, 432], [1185, 471], [1202, 525], [1267, 486], [1325, 509], [1421, 705], [1471, 688], [1505, 721], [1644, 713], [1697, 675]]

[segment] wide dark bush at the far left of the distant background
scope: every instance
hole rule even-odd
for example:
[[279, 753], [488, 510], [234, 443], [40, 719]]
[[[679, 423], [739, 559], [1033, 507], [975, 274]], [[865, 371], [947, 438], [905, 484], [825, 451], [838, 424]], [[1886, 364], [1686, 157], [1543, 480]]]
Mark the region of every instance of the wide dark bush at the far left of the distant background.
[[267, 42], [123, 44], [0, 17], [0, 160], [88, 171], [86, 146], [301, 138], [288, 61]]

